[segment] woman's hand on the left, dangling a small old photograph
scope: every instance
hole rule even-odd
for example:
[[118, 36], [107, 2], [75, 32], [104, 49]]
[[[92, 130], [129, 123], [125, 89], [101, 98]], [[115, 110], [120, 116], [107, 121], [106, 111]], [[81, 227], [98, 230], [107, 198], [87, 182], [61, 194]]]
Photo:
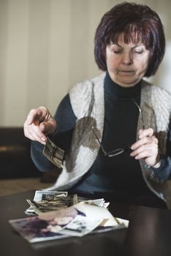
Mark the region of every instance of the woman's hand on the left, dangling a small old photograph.
[[45, 144], [47, 135], [56, 130], [56, 120], [45, 107], [30, 110], [23, 125], [24, 135], [30, 140]]

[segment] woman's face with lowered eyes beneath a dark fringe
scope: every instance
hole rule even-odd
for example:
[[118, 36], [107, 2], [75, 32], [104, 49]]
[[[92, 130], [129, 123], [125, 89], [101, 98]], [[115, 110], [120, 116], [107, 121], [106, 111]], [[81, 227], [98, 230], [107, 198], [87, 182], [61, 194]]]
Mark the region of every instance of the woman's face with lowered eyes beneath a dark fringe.
[[148, 69], [149, 53], [142, 43], [126, 44], [120, 36], [117, 43], [106, 47], [107, 71], [110, 78], [120, 86], [134, 86]]

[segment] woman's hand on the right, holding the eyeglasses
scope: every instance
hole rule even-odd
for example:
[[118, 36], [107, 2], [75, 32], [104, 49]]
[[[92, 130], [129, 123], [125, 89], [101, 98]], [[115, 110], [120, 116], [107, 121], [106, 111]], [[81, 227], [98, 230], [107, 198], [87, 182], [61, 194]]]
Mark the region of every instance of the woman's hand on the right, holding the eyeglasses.
[[154, 135], [152, 128], [140, 129], [139, 140], [131, 148], [131, 157], [145, 159], [146, 164], [151, 167], [160, 166], [158, 139]]

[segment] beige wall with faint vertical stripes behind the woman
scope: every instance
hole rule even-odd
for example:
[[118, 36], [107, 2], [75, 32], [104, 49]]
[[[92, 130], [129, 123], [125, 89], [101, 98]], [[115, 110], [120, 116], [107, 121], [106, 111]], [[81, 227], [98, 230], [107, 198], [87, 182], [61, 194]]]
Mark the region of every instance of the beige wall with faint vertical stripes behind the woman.
[[[69, 87], [98, 75], [94, 32], [112, 0], [0, 0], [0, 127], [20, 127], [28, 111], [51, 113]], [[171, 91], [170, 0], [136, 1], [159, 13], [167, 54], [152, 79]]]

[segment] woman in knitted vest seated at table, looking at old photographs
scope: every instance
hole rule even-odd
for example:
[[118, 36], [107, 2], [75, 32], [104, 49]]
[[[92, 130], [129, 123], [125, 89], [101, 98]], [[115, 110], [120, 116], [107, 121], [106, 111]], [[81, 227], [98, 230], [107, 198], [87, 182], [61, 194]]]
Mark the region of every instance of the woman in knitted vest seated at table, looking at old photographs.
[[129, 203], [170, 205], [170, 94], [143, 78], [164, 56], [159, 15], [123, 2], [96, 29], [94, 54], [102, 75], [77, 83], [55, 116], [39, 107], [24, 132], [41, 171], [54, 170], [42, 150], [47, 136], [64, 149], [64, 166], [50, 189]]

